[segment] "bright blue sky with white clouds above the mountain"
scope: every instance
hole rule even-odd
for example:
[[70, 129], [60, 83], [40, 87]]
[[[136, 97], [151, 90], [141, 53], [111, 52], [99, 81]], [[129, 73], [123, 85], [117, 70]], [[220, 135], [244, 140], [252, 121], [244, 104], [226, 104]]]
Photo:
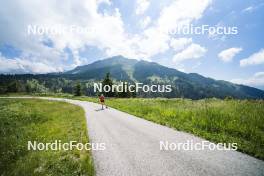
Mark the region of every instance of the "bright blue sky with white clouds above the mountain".
[[[263, 19], [264, 0], [1, 1], [0, 73], [123, 55], [264, 89]], [[190, 26], [225, 33], [184, 33]]]

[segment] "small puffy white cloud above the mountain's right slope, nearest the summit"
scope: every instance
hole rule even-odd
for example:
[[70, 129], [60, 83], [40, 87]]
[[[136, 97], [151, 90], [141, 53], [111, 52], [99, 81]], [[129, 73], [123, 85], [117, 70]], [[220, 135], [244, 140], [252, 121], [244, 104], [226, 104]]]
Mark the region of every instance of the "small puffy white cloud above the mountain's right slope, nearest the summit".
[[177, 53], [173, 57], [174, 62], [182, 62], [184, 60], [190, 59], [199, 59], [206, 53], [207, 49], [198, 45], [198, 44], [191, 44], [186, 49]]

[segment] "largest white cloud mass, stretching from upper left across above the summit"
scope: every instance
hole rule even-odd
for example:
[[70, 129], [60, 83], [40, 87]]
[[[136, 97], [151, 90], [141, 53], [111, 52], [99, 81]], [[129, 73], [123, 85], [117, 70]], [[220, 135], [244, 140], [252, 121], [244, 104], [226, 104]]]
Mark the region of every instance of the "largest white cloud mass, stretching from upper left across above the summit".
[[[139, 2], [141, 10], [138, 10], [138, 14], [142, 14], [148, 9], [149, 1]], [[138, 33], [128, 33], [125, 30], [119, 9], [99, 13], [100, 3], [110, 5], [111, 1], [75, 0], [59, 5], [53, 0], [28, 0], [23, 3], [20, 0], [6, 1], [4, 6], [0, 6], [0, 44], [9, 44], [21, 50], [22, 55], [19, 58], [23, 61], [43, 63], [51, 68], [56, 67], [55, 70], [86, 63], [87, 58], [80, 57], [80, 50], [86, 46], [95, 46], [107, 56], [121, 54], [130, 58], [146, 59], [170, 49], [171, 36], [164, 31], [201, 18], [211, 0], [173, 1], [161, 10], [157, 20], [151, 21], [151, 24], [148, 24], [150, 20], [146, 18], [146, 28]], [[76, 25], [93, 28], [95, 33], [67, 32], [65, 35], [47, 35], [45, 37], [54, 44], [53, 47], [48, 47], [42, 43], [44, 36], [27, 35], [27, 25], [30, 24], [46, 27]], [[69, 59], [65, 48], [70, 49], [73, 60]], [[35, 71], [30, 68], [29, 70]]]

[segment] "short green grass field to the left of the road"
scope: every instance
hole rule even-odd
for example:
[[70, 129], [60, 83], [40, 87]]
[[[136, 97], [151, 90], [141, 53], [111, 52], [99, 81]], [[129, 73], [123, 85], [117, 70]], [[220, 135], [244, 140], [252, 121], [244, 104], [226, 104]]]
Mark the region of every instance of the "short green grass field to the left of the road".
[[84, 111], [34, 99], [0, 99], [0, 175], [94, 175], [89, 151], [29, 151], [28, 141], [88, 142]]

